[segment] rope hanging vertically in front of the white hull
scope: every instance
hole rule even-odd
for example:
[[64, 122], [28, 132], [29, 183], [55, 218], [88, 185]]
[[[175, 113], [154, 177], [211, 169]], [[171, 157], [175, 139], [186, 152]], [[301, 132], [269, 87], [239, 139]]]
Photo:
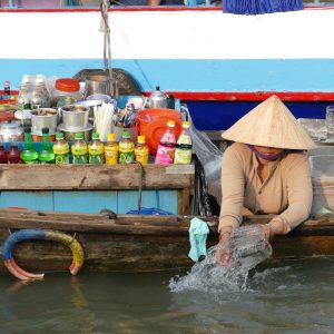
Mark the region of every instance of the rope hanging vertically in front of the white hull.
[[108, 18], [109, 0], [101, 0], [100, 12], [101, 12], [101, 24], [100, 31], [104, 32], [104, 67], [108, 70], [109, 78], [111, 80], [111, 95], [114, 91], [114, 78], [112, 78], [112, 67], [111, 67], [111, 43], [110, 43], [110, 28]]

